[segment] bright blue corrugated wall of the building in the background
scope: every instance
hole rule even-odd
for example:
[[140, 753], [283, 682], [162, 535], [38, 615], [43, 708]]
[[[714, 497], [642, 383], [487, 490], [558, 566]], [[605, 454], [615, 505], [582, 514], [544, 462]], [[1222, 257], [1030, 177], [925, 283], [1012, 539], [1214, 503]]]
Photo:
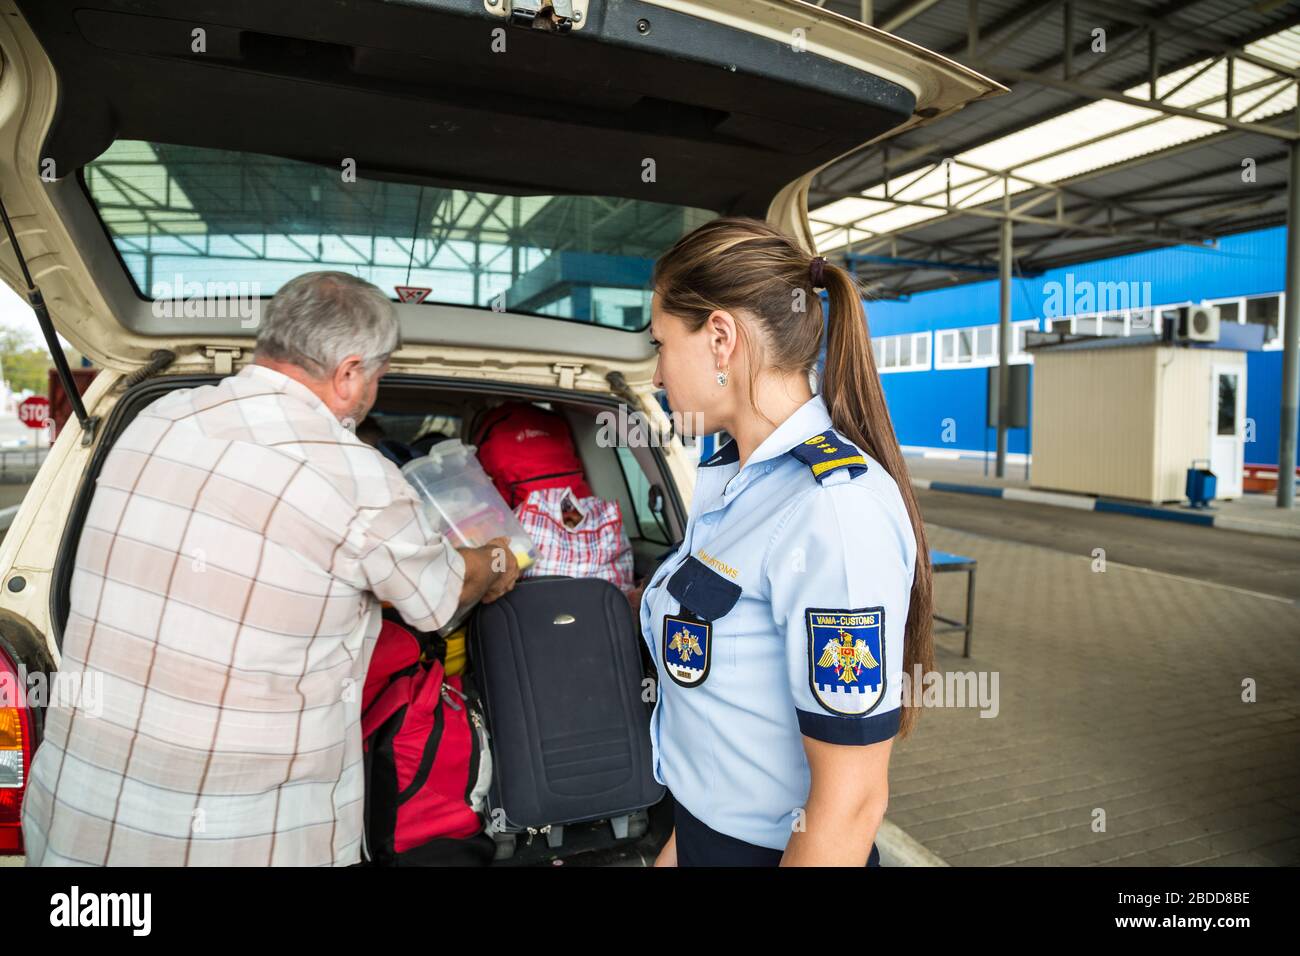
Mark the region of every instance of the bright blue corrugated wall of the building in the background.
[[[1044, 286], [1048, 282], [1065, 286], [1069, 273], [1075, 285], [1149, 282], [1150, 304], [1157, 306], [1279, 293], [1284, 286], [1286, 238], [1286, 229], [1279, 226], [1225, 237], [1213, 250], [1187, 246], [1153, 250], [1014, 278], [1011, 321], [1041, 317], [1048, 303]], [[867, 325], [872, 336], [989, 325], [997, 323], [997, 311], [994, 280], [923, 293], [907, 300], [868, 300]], [[993, 433], [988, 432], [985, 438], [984, 431], [987, 375], [985, 368], [883, 373], [898, 441], [963, 451], [982, 451], [985, 441], [992, 446]], [[1247, 464], [1277, 463], [1280, 401], [1282, 352], [1249, 352], [1245, 414], [1254, 420], [1254, 441], [1245, 446]], [[949, 420], [953, 428], [945, 436]], [[1009, 432], [1008, 450], [1028, 450], [1027, 429]]]

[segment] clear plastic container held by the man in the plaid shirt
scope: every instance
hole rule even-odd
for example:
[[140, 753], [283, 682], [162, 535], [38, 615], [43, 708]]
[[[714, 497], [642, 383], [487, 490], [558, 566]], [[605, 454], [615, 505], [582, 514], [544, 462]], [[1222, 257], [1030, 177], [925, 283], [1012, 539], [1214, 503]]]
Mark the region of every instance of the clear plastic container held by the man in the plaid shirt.
[[402, 475], [419, 492], [434, 531], [465, 548], [481, 548], [504, 536], [520, 570], [533, 563], [533, 540], [488, 477], [472, 445], [456, 438], [439, 441], [428, 455], [403, 464]]

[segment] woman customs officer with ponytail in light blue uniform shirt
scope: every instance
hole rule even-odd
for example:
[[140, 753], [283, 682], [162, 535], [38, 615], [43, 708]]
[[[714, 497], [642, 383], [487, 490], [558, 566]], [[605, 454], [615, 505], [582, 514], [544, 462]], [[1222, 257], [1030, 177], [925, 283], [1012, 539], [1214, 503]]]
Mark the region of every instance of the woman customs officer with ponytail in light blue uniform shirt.
[[931, 575], [858, 289], [720, 219], [656, 264], [651, 336], [684, 431], [732, 436], [641, 598], [675, 801], [656, 865], [879, 865], [893, 737], [915, 721], [902, 674], [933, 667]]

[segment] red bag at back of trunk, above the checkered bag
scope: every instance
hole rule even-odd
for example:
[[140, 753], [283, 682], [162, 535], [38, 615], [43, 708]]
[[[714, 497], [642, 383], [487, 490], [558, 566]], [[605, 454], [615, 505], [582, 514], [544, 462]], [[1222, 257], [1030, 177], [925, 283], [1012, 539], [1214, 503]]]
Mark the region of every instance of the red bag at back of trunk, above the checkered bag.
[[540, 488], [572, 488], [592, 497], [573, 433], [556, 412], [528, 402], [506, 402], [489, 410], [473, 429], [478, 463], [512, 509]]

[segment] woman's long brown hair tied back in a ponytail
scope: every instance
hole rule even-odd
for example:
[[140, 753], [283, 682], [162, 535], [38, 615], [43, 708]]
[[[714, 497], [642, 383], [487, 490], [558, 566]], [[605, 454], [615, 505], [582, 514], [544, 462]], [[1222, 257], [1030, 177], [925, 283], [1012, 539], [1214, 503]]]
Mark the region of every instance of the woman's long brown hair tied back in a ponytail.
[[[933, 593], [926, 525], [885, 405], [862, 308], [862, 291], [853, 276], [826, 263], [822, 281], [829, 316], [823, 326], [811, 265], [812, 258], [807, 251], [768, 224], [744, 217], [718, 219], [684, 235], [659, 259], [654, 271], [654, 290], [663, 310], [685, 321], [692, 332], [716, 310], [753, 316], [759, 342], [751, 343], [745, 336], [751, 368], [810, 372], [820, 354], [824, 328], [827, 347], [822, 397], [831, 423], [836, 432], [880, 462], [898, 485], [916, 538], [916, 567], [904, 627], [906, 687], [909, 680], [915, 679], [918, 666], [922, 674], [935, 669]], [[755, 346], [762, 347], [760, 359], [754, 354]], [[918, 689], [913, 687], [911, 692], [915, 695]], [[904, 693], [900, 737], [911, 732], [916, 718], [916, 709]]]

